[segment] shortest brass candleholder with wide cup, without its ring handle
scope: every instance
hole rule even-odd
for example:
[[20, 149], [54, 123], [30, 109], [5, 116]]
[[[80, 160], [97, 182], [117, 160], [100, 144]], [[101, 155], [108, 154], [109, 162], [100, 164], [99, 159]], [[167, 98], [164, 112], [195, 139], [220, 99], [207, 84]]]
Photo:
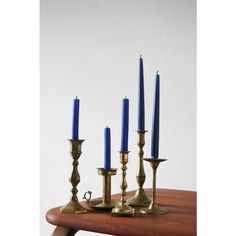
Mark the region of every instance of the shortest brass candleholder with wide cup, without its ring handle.
[[111, 168], [105, 170], [104, 168], [98, 168], [98, 174], [103, 176], [103, 196], [102, 203], [93, 207], [102, 209], [111, 209], [115, 207], [115, 202], [111, 200], [111, 176], [116, 175], [117, 169]]

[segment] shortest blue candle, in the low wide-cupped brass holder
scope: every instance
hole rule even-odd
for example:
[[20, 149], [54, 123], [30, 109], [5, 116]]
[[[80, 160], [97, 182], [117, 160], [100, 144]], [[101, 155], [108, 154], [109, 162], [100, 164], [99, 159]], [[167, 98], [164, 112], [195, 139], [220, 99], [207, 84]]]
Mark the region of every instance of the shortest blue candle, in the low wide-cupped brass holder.
[[111, 169], [111, 130], [104, 129], [104, 169]]

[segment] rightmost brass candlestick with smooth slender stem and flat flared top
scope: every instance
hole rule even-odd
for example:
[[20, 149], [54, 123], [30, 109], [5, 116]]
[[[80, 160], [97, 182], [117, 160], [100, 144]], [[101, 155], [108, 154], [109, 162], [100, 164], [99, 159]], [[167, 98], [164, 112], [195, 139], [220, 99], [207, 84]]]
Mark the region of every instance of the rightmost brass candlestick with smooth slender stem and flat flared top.
[[156, 200], [156, 172], [157, 172], [157, 167], [159, 166], [159, 164], [163, 161], [166, 161], [167, 159], [144, 158], [144, 160], [148, 161], [151, 164], [151, 167], [153, 170], [152, 201], [149, 207], [142, 209], [141, 212], [144, 214], [157, 214], [157, 215], [166, 214], [167, 210], [164, 208], [158, 207], [157, 200]]

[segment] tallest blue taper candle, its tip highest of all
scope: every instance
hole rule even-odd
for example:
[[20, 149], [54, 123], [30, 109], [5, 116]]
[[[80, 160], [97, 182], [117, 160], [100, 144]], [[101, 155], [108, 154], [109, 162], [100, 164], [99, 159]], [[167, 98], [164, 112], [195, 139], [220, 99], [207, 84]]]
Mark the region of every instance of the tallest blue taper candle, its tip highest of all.
[[145, 105], [143, 82], [143, 58], [139, 58], [139, 86], [138, 86], [138, 130], [145, 130]]

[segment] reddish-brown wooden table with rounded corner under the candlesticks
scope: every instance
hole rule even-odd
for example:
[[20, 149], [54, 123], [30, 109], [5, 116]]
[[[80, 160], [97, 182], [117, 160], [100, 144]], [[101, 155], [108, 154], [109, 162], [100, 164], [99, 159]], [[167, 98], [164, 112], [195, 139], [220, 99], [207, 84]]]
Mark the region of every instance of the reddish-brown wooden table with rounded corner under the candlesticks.
[[[134, 191], [129, 192], [128, 197]], [[146, 189], [151, 197], [152, 190]], [[120, 195], [113, 195], [119, 199]], [[79, 230], [120, 236], [190, 236], [196, 235], [196, 192], [157, 189], [159, 206], [168, 209], [165, 215], [111, 217], [109, 212], [61, 214], [59, 207], [49, 210], [46, 219], [56, 225], [53, 236], [72, 236]], [[82, 203], [86, 206], [85, 203]], [[138, 212], [138, 208], [137, 212]]]

